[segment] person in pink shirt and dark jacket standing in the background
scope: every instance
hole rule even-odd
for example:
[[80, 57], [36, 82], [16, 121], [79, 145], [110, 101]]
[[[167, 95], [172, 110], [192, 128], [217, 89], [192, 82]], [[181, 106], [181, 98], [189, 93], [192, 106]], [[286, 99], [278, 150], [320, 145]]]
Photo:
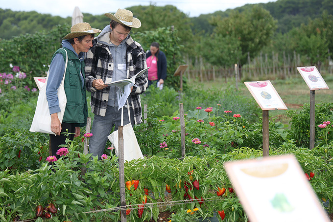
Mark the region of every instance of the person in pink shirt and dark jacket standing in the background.
[[[150, 50], [147, 52], [148, 69], [148, 87], [164, 84], [166, 79], [166, 54], [160, 50], [160, 45], [156, 42], [150, 44]], [[161, 89], [161, 88], [160, 88]]]

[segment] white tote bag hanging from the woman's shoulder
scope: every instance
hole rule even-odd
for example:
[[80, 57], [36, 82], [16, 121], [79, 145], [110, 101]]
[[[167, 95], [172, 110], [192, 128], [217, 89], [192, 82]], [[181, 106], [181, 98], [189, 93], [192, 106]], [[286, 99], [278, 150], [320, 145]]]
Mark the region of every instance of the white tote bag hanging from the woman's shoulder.
[[[65, 50], [65, 49], [64, 49]], [[64, 89], [64, 81], [65, 81], [65, 75], [66, 75], [66, 68], [67, 68], [67, 62], [68, 62], [68, 55], [66, 52], [66, 63], [65, 63], [65, 73], [63, 76], [63, 79], [61, 81], [61, 84], [58, 88], [58, 100], [59, 100], [59, 107], [60, 112], [58, 112], [58, 118], [60, 122], [62, 123], [64, 112], [66, 108], [67, 98], [65, 94]], [[49, 71], [49, 69], [48, 69]], [[37, 100], [37, 106], [35, 115], [33, 117], [30, 132], [39, 132], [39, 133], [49, 133], [55, 135], [51, 131], [51, 115], [48, 110], [48, 100], [46, 99], [46, 85], [48, 84], [48, 75], [46, 77], [45, 84], [41, 87], [41, 90], [39, 91], [38, 100]]]

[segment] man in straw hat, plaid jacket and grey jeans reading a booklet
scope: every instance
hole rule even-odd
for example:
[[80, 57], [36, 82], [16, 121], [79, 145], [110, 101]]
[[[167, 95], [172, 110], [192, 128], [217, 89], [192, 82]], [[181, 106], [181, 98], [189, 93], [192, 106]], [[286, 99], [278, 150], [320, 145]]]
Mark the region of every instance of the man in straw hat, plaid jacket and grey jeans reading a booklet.
[[[95, 114], [89, 151], [98, 159], [104, 152], [107, 136], [113, 127], [118, 130], [121, 121], [121, 109], [117, 101], [117, 87], [105, 85], [131, 78], [147, 67], [146, 55], [141, 44], [129, 35], [132, 28], [139, 28], [141, 22], [126, 9], [118, 9], [113, 15], [105, 13], [111, 19], [109, 25], [93, 41], [93, 47], [85, 58], [86, 88], [91, 92], [91, 107]], [[128, 97], [132, 126], [142, 123], [140, 94], [148, 86], [148, 73], [136, 78]], [[127, 106], [125, 105], [127, 108]], [[123, 125], [129, 123], [127, 109], [123, 109]]]

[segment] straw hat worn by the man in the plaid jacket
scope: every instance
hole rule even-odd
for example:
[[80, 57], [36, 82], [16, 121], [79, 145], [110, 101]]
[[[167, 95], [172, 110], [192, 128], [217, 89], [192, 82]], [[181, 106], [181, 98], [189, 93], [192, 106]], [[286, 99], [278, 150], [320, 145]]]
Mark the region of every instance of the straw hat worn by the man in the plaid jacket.
[[120, 24], [123, 24], [132, 28], [140, 28], [141, 22], [139, 19], [133, 17], [133, 13], [126, 9], [118, 9], [117, 12], [113, 15], [111, 13], [104, 13], [106, 17], [111, 20], [114, 20]]

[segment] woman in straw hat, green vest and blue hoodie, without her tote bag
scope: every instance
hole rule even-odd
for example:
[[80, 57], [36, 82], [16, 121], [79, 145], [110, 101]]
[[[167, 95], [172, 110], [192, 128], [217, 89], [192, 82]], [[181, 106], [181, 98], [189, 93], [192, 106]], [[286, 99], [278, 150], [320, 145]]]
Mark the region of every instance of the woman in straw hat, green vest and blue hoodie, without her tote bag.
[[[51, 115], [50, 146], [52, 155], [56, 155], [59, 145], [66, 144], [67, 135], [61, 134], [68, 130], [70, 139], [80, 135], [80, 127], [86, 125], [88, 117], [86, 87], [84, 84], [84, 60], [83, 53], [88, 52], [93, 46], [95, 33], [101, 30], [92, 28], [89, 23], [81, 22], [71, 27], [71, 32], [62, 41], [62, 48], [59, 48], [53, 55], [48, 74], [46, 95], [48, 109]], [[67, 55], [66, 55], [66, 52]], [[57, 112], [60, 111], [57, 89], [60, 86], [64, 72], [65, 62], [68, 59], [64, 89], [67, 97], [66, 109], [62, 123], [58, 119]], [[57, 155], [59, 157], [59, 155]]]

